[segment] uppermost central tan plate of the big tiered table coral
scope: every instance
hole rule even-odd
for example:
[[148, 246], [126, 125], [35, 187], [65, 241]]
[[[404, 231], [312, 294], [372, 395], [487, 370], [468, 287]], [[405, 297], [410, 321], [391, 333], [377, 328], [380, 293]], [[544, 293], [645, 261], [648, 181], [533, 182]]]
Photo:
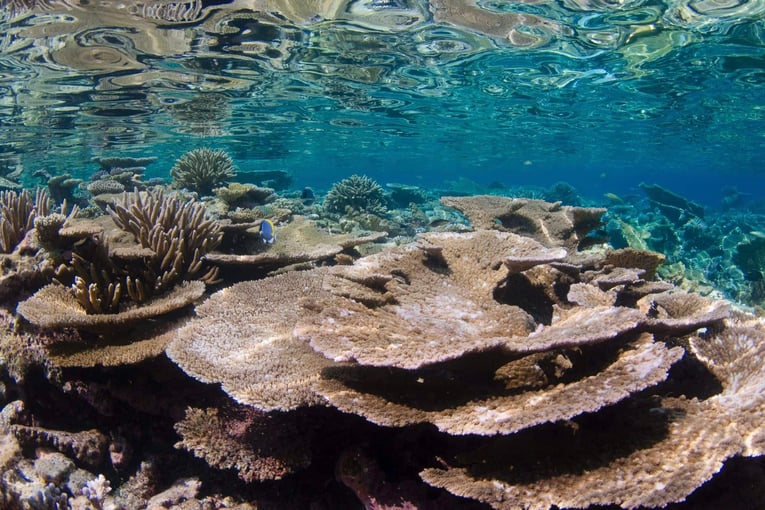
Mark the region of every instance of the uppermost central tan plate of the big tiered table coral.
[[[417, 246], [338, 266], [335, 276], [366, 289], [359, 295], [346, 287], [310, 303], [295, 332], [335, 361], [410, 369], [504, 345], [535, 327], [525, 311], [493, 295], [508, 273], [502, 266], [506, 254], [524, 251], [518, 250], [524, 241], [529, 240], [488, 230], [427, 234]], [[386, 283], [364, 281], [374, 275]], [[368, 294], [380, 287], [390, 297], [378, 305]]]

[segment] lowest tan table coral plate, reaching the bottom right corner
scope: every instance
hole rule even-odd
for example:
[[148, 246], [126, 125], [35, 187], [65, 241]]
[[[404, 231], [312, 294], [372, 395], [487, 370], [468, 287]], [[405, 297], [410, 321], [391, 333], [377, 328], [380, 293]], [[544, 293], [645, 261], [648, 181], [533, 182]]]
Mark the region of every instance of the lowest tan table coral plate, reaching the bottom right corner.
[[[430, 468], [421, 476], [432, 485], [497, 509], [546, 510], [552, 506], [591, 505], [632, 509], [683, 501], [712, 478], [726, 459], [765, 453], [762, 330], [734, 324], [710, 339], [692, 340], [691, 347], [719, 377], [723, 390], [702, 401], [665, 398], [652, 415], [637, 417], [645, 420], [650, 416], [664, 417], [668, 421], [665, 434], [658, 441], [625, 441], [624, 427], [612, 425], [610, 433], [616, 434], [622, 444], [634, 443], [637, 448], [623, 455], [611, 453], [612, 460], [592, 468], [561, 470], [564, 460], [558, 452], [554, 457], [557, 469], [545, 468], [549, 476], [538, 471], [536, 479], [524, 481], [510, 474], [514, 462], [497, 452], [492, 459], [484, 457], [484, 466], [478, 471], [468, 466]], [[603, 436], [608, 431], [601, 428], [596, 433]], [[497, 460], [500, 463], [493, 464]], [[542, 465], [538, 459], [537, 469]]]

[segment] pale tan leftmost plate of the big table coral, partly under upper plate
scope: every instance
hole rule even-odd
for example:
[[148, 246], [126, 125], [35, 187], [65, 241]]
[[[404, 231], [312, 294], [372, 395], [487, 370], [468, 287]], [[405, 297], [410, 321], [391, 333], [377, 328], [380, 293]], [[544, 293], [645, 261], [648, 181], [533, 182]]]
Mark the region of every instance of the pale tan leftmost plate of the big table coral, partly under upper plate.
[[321, 292], [324, 272], [291, 272], [214, 293], [181, 328], [168, 356], [187, 374], [221, 383], [240, 403], [288, 410], [321, 403], [313, 386], [331, 362], [292, 336], [299, 302]]

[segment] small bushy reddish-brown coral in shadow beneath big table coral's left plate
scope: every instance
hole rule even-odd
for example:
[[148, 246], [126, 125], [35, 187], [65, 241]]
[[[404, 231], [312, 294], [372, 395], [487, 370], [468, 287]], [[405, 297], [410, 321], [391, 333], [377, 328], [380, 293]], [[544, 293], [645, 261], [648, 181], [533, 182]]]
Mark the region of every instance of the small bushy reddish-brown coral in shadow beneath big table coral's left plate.
[[183, 448], [219, 469], [235, 469], [246, 482], [280, 480], [306, 467], [310, 460], [307, 441], [300, 440], [283, 417], [254, 409], [227, 410], [188, 408], [175, 424]]

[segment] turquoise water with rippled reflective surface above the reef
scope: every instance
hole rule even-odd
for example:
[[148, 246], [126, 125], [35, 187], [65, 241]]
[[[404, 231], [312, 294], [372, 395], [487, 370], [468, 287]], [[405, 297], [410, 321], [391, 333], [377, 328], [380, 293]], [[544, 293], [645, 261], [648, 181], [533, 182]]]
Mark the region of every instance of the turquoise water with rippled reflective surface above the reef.
[[762, 0], [0, 4], [0, 168], [29, 185], [207, 146], [296, 187], [762, 198]]

